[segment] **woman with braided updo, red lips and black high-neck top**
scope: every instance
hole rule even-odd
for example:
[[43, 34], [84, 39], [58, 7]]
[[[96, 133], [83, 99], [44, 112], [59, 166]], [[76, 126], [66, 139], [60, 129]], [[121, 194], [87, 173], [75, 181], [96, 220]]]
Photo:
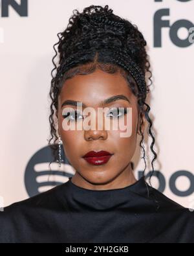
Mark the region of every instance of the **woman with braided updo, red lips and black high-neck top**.
[[[109, 6], [92, 5], [82, 13], [76, 10], [58, 38], [49, 145], [60, 166], [63, 143], [76, 173], [66, 183], [5, 207], [0, 241], [194, 242], [193, 213], [148, 185], [145, 176], [137, 181], [131, 168], [138, 135], [146, 163], [146, 122], [153, 140], [152, 168], [156, 159], [144, 37]], [[102, 129], [86, 128], [87, 108], [93, 114], [106, 110], [101, 119], [91, 115], [90, 122], [101, 123]], [[105, 128], [108, 122], [111, 128]], [[129, 133], [121, 135], [126, 126], [113, 130], [116, 122], [127, 122]]]

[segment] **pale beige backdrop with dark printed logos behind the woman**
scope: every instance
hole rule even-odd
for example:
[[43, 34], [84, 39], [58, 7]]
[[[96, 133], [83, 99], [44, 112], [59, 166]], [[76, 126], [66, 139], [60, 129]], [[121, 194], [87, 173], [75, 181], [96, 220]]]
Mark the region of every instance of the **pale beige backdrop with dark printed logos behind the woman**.
[[[74, 175], [67, 159], [61, 169], [55, 163], [52, 172], [48, 168], [52, 45], [72, 10], [89, 5], [109, 5], [144, 34], [153, 71], [149, 104], [158, 154], [153, 186], [194, 208], [194, 0], [0, 0], [0, 207]], [[147, 150], [150, 143], [148, 137]], [[138, 148], [133, 162], [139, 178], [144, 161]]]

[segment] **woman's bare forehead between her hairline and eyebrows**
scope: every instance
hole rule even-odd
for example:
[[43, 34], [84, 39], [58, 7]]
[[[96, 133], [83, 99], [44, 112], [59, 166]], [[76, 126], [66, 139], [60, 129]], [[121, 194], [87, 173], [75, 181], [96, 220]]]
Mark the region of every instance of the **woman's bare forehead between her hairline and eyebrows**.
[[89, 75], [76, 75], [67, 79], [61, 89], [59, 100], [78, 100], [91, 106], [98, 105], [98, 102], [113, 95], [125, 95], [130, 99], [133, 97], [124, 76], [96, 69]]

